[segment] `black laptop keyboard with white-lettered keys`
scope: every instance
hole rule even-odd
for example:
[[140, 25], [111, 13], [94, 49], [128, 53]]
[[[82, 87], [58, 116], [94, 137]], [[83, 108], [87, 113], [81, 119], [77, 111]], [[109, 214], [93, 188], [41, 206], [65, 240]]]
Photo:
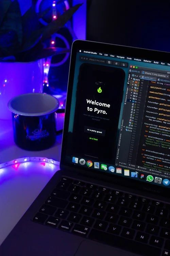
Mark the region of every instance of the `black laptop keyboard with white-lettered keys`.
[[170, 204], [68, 177], [33, 221], [141, 255], [170, 255]]

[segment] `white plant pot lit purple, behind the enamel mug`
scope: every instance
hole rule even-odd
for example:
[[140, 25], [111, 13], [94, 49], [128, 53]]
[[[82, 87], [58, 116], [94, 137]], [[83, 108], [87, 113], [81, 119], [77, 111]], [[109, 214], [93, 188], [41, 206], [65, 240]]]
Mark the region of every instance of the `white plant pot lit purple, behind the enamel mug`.
[[0, 119], [11, 119], [8, 101], [20, 94], [42, 93], [43, 60], [0, 62]]

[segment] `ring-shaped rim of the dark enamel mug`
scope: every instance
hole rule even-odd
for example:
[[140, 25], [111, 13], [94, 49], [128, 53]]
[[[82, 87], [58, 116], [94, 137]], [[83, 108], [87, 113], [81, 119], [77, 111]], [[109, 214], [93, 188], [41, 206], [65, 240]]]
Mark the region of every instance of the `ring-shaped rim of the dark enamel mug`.
[[[24, 97], [26, 95], [44, 95], [44, 97], [46, 97], [46, 95], [48, 97], [51, 97], [51, 99], [55, 100], [56, 102], [56, 105], [54, 108], [48, 110], [48, 111], [44, 111], [44, 112], [37, 112], [37, 113], [26, 113], [26, 112], [22, 112], [22, 111], [18, 111], [16, 109], [14, 109], [11, 105], [11, 103], [14, 101], [14, 99], [17, 99], [17, 98], [21, 98], [21, 97]], [[14, 114], [18, 114], [18, 115], [21, 115], [21, 116], [43, 116], [43, 115], [48, 115], [48, 114], [51, 114], [53, 112], [55, 112], [58, 108], [59, 108], [59, 105], [60, 105], [60, 102], [58, 101], [57, 98], [55, 98], [54, 96], [50, 95], [50, 94], [46, 94], [46, 93], [27, 93], [27, 94], [21, 94], [21, 95], [18, 95], [18, 96], [15, 96], [13, 97], [9, 102], [8, 102], [8, 109], [14, 113]]]

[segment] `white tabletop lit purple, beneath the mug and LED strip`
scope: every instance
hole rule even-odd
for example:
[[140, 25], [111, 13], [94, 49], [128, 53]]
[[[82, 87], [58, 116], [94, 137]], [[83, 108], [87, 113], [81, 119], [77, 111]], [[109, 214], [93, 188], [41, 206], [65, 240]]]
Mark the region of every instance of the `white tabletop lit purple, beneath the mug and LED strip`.
[[[64, 114], [58, 115], [57, 129], [62, 129], [63, 120]], [[59, 161], [61, 142], [62, 135], [57, 136], [54, 146], [48, 150], [22, 150], [14, 143], [12, 120], [0, 120], [0, 163], [28, 156]], [[3, 176], [0, 175], [0, 244], [59, 169], [59, 166], [51, 170], [43, 165], [36, 168], [37, 164], [39, 163], [29, 163], [27, 172], [23, 171], [22, 166], [17, 171], [12, 167], [5, 168]]]

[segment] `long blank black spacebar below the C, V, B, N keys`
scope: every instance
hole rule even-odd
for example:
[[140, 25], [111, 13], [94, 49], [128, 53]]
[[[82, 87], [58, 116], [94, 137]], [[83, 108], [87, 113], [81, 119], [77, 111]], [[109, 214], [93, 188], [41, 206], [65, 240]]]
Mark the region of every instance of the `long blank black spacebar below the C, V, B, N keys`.
[[105, 233], [96, 229], [92, 229], [88, 238], [102, 242], [111, 246], [119, 247], [123, 250], [137, 253], [145, 256], [160, 256], [160, 249], [147, 244], [129, 240], [126, 238], [115, 236], [114, 234]]

